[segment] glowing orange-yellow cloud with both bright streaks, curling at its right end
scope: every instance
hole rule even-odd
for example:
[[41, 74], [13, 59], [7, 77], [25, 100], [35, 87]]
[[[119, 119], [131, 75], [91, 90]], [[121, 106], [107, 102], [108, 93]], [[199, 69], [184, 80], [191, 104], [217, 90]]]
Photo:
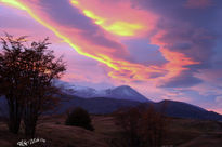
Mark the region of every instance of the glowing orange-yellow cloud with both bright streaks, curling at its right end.
[[[110, 1], [104, 1], [102, 3], [103, 5], [96, 0], [93, 0], [91, 3], [86, 0], [70, 1], [69, 4], [78, 8], [81, 12], [79, 12], [78, 16], [86, 15], [89, 19], [94, 22], [92, 24], [87, 24], [87, 27], [92, 27], [92, 29], [89, 30], [81, 28], [81, 25], [75, 26], [76, 22], [63, 24], [64, 21], [61, 21], [61, 23], [53, 19], [52, 16], [48, 14], [45, 8], [43, 9], [37, 5], [38, 0], [0, 1], [25, 10], [34, 19], [53, 31], [80, 55], [93, 58], [108, 66], [108, 76], [114, 79], [126, 82], [168, 79], [185, 70], [186, 68], [184, 66], [197, 64], [197, 62], [193, 62], [182, 53], [165, 49], [165, 43], [158, 39], [164, 35], [161, 31], [153, 37], [151, 42], [160, 46], [159, 50], [168, 61], [167, 64], [162, 66], [145, 66], [123, 59], [128, 56], [128, 52], [125, 45], [117, 41], [117, 36], [138, 37], [141, 36], [142, 32], [147, 34], [147, 31], [155, 27], [155, 22], [157, 21], [156, 15], [134, 9], [129, 1], [120, 1], [117, 2], [116, 5]], [[114, 10], [113, 8], [116, 9]], [[71, 16], [68, 21], [70, 19]]]

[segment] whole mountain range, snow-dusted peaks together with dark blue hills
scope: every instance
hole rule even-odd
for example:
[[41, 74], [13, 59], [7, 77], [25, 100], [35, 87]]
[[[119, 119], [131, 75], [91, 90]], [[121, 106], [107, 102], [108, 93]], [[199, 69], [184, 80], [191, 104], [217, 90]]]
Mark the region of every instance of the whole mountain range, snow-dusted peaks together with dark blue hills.
[[[57, 113], [64, 113], [74, 107], [82, 107], [90, 113], [105, 115], [123, 107], [135, 107], [143, 104], [147, 107], [153, 106], [157, 111], [164, 108], [165, 113], [169, 117], [222, 121], [220, 113], [184, 102], [169, 99], [153, 102], [128, 85], [95, 90], [63, 81], [56, 81], [54, 84], [62, 90], [62, 94], [57, 95], [62, 98]], [[0, 98], [0, 116], [1, 111], [6, 109], [5, 104], [5, 99]]]

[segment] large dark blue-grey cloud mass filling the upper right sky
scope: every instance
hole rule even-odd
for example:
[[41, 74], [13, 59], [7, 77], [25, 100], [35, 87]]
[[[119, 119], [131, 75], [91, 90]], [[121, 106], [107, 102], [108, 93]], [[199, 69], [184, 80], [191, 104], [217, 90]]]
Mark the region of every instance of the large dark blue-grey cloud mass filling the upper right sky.
[[190, 4], [196, 4], [195, 8], [191, 8], [187, 6], [187, 0], [133, 1], [134, 6], [155, 12], [160, 16], [156, 32], [165, 31], [158, 40], [165, 44], [164, 48], [198, 62], [198, 64], [186, 66], [187, 71], [162, 81], [161, 86], [181, 88], [198, 84], [201, 80], [194, 77], [194, 74], [200, 69], [210, 69], [212, 66], [217, 40], [221, 36], [218, 31], [221, 28], [216, 24], [218, 19], [222, 19], [222, 15], [218, 15], [222, 9], [222, 1], [201, 2], [204, 3], [190, 1]]

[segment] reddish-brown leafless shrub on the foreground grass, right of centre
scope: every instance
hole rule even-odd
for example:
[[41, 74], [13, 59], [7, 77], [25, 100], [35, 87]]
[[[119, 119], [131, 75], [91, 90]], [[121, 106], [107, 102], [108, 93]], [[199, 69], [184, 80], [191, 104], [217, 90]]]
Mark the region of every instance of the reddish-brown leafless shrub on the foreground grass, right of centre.
[[152, 105], [140, 105], [115, 113], [128, 147], [160, 147], [166, 133], [166, 117]]

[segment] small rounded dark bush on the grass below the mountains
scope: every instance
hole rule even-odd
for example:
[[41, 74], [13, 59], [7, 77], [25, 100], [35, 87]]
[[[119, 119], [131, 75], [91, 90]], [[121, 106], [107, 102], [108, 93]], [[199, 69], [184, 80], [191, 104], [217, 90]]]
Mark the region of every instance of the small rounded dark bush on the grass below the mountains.
[[90, 115], [87, 110], [80, 107], [75, 108], [70, 113], [68, 113], [65, 124], [84, 128], [90, 131], [94, 130], [91, 124]]

